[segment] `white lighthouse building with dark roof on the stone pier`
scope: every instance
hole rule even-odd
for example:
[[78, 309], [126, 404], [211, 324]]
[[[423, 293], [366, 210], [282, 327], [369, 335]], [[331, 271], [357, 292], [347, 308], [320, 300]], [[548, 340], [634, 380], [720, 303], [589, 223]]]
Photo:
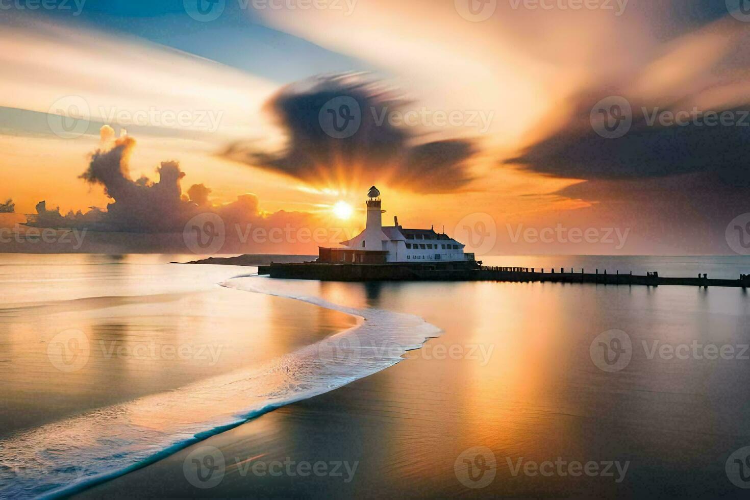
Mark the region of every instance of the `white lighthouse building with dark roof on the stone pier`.
[[427, 264], [474, 261], [473, 253], [463, 253], [465, 245], [434, 229], [404, 229], [398, 224], [398, 217], [394, 217], [394, 226], [383, 226], [380, 191], [373, 186], [368, 196], [365, 231], [349, 241], [342, 241], [343, 248], [320, 248], [319, 262]]

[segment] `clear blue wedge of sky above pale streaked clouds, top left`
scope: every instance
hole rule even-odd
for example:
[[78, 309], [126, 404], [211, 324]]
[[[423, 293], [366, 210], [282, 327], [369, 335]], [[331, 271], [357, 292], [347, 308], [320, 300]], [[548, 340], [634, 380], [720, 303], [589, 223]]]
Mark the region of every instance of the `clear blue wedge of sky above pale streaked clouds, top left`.
[[252, 7], [242, 9], [241, 5], [238, 0], [226, 1], [223, 13], [210, 22], [188, 16], [183, 0], [86, 0], [80, 16], [61, 10], [40, 13], [52, 16], [55, 22], [136, 36], [280, 83], [318, 73], [376, 69], [365, 61], [269, 28]]

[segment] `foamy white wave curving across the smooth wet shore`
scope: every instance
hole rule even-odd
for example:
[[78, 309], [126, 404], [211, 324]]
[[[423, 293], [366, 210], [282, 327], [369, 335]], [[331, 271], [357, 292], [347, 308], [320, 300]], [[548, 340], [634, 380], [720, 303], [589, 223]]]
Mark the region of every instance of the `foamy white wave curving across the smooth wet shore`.
[[263, 413], [384, 370], [440, 333], [418, 316], [344, 307], [305, 295], [299, 282], [244, 276], [222, 285], [305, 301], [359, 322], [260, 368], [13, 434], [0, 441], [0, 498], [77, 493]]

